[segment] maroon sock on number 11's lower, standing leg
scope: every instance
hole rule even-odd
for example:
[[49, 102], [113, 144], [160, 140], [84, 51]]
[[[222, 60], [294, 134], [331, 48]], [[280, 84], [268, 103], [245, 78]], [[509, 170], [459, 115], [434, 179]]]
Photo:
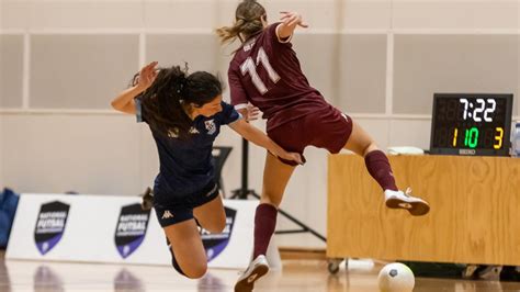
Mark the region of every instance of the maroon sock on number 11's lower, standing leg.
[[276, 227], [278, 209], [271, 204], [259, 204], [255, 213], [255, 250], [252, 258], [268, 251], [269, 242]]

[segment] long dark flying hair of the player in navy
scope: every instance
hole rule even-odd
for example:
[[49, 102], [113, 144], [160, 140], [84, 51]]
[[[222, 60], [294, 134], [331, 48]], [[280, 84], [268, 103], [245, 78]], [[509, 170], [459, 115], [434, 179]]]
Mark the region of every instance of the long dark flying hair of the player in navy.
[[[143, 102], [143, 115], [152, 131], [159, 134], [189, 138], [193, 121], [183, 104], [196, 108], [211, 102], [222, 94], [222, 83], [217, 77], [206, 71], [188, 75], [188, 66], [158, 69], [154, 83], [138, 97]], [[134, 76], [133, 85], [138, 75]]]

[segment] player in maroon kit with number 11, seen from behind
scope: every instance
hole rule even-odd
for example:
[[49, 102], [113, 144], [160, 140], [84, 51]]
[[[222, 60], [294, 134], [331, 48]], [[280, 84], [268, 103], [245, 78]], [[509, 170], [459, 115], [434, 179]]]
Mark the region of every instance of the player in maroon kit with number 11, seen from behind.
[[[307, 27], [295, 12], [281, 12], [280, 22], [268, 24], [265, 9], [257, 1], [242, 1], [233, 26], [217, 30], [222, 43], [241, 46], [229, 64], [231, 104], [247, 114], [251, 103], [268, 120], [269, 137], [289, 151], [303, 155], [305, 147], [325, 148], [332, 154], [342, 148], [364, 157], [366, 169], [381, 186], [385, 203], [411, 215], [429, 212], [426, 201], [399, 191], [386, 155], [352, 119], [325, 101], [302, 72], [291, 38], [297, 26]], [[247, 116], [247, 115], [246, 115]], [[236, 291], [251, 291], [268, 272], [267, 248], [276, 225], [278, 206], [295, 164], [267, 155], [263, 189], [255, 215], [253, 261], [240, 276]]]

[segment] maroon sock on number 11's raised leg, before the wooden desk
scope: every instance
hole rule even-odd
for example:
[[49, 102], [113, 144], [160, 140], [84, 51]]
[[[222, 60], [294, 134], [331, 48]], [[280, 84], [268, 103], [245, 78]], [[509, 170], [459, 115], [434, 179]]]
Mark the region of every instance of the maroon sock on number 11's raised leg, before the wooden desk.
[[381, 150], [374, 150], [365, 155], [364, 162], [370, 175], [377, 181], [384, 190], [397, 191], [394, 173], [388, 162], [388, 158]]

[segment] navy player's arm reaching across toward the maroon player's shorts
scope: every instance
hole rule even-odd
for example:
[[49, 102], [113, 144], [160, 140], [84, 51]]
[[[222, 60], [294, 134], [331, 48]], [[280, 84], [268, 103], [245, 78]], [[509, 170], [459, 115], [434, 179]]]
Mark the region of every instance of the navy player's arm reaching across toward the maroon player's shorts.
[[255, 143], [256, 145], [268, 149], [273, 155], [286, 159], [296, 161], [299, 165], [303, 165], [302, 156], [297, 153], [287, 153], [282, 147], [280, 147], [274, 141], [272, 141], [268, 135], [257, 127], [250, 125], [246, 122], [245, 119], [240, 119], [235, 123], [229, 124], [229, 126], [240, 134], [245, 139]]

